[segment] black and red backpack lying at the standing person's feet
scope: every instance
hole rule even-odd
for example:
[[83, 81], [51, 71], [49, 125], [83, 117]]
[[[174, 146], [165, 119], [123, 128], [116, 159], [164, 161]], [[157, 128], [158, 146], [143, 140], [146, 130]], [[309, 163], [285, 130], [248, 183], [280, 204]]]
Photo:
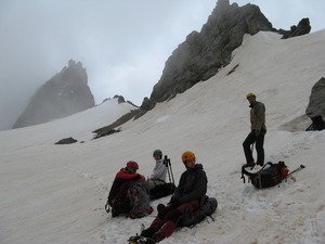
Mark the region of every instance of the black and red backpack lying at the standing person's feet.
[[271, 188], [287, 177], [288, 167], [282, 160], [277, 164], [269, 162], [257, 172], [249, 172], [245, 167], [242, 167], [242, 179], [245, 183], [244, 175], [248, 176], [251, 184], [258, 189]]

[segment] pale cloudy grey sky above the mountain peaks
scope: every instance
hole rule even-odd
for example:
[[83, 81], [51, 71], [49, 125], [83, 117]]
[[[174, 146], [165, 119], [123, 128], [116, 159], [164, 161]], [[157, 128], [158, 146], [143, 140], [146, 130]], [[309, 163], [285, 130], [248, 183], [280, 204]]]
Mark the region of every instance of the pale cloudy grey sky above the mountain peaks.
[[[325, 28], [325, 1], [237, 0], [253, 3], [275, 28], [309, 17]], [[199, 31], [217, 0], [0, 0], [0, 130], [9, 129], [36, 89], [70, 59], [87, 68], [96, 104], [121, 94], [141, 105], [165, 62]]]

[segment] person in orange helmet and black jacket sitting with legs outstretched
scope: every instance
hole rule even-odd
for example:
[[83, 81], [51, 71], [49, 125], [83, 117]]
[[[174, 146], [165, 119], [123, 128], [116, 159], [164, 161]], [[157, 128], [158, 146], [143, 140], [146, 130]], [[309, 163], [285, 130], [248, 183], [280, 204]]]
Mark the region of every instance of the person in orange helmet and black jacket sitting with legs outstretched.
[[200, 164], [195, 164], [195, 154], [186, 151], [182, 155], [186, 170], [181, 175], [179, 185], [167, 206], [158, 205], [158, 216], [140, 236], [153, 244], [169, 237], [185, 213], [199, 208], [200, 200], [207, 192], [207, 176]]

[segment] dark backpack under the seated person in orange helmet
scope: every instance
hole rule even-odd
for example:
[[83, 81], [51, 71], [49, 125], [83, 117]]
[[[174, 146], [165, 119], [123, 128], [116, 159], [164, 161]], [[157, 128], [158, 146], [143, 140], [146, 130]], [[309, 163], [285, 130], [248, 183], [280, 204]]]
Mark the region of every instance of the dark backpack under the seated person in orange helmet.
[[198, 209], [193, 213], [190, 210], [190, 208], [185, 209], [184, 217], [181, 219], [179, 226], [193, 227], [203, 221], [207, 216], [214, 221], [211, 215], [217, 210], [217, 198], [204, 195], [200, 200], [200, 207]]

